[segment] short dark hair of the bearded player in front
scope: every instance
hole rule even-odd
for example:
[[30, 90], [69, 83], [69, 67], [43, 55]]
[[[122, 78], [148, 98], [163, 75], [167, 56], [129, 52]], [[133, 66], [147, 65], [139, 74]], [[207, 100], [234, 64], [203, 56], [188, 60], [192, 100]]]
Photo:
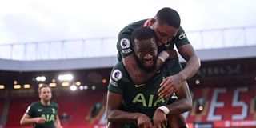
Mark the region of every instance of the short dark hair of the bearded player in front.
[[150, 29], [149, 27], [140, 27], [136, 30], [133, 31], [131, 34], [131, 39], [132, 39], [132, 45], [134, 46], [134, 40], [146, 40], [154, 38], [157, 42], [157, 34], [155, 34], [154, 30]]

